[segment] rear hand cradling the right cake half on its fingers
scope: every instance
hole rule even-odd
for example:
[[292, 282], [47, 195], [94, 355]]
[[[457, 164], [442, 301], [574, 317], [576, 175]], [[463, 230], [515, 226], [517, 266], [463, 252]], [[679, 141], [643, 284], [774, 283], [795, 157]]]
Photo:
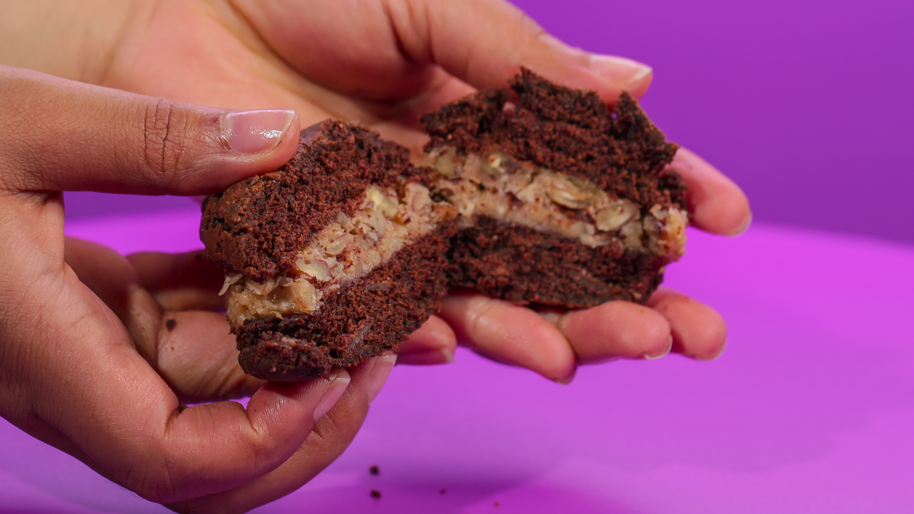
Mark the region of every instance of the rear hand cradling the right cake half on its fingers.
[[[50, 21], [40, 2], [11, 3], [14, 16], [7, 18], [18, 25], [4, 29], [20, 43], [6, 45], [4, 62], [187, 102], [284, 107], [298, 112], [303, 125], [326, 117], [359, 120], [413, 150], [425, 140], [416, 126], [420, 113], [474, 88], [502, 85], [520, 65], [598, 91], [609, 102], [622, 90], [640, 97], [652, 79], [642, 64], [565, 46], [498, 0], [96, 0], [62, 8], [44, 2], [57, 7]], [[40, 21], [25, 21], [29, 16]], [[91, 20], [92, 30], [80, 19]], [[728, 235], [749, 225], [746, 197], [728, 178], [685, 150], [673, 167], [689, 187], [693, 225]], [[655, 357], [668, 349], [711, 359], [726, 340], [713, 309], [668, 290], [647, 306], [610, 302], [546, 317], [455, 296], [441, 316], [463, 344], [562, 382], [580, 363]], [[447, 359], [449, 329], [430, 324], [423, 329], [434, 333], [435, 351]], [[436, 358], [424, 361], [430, 359]]]

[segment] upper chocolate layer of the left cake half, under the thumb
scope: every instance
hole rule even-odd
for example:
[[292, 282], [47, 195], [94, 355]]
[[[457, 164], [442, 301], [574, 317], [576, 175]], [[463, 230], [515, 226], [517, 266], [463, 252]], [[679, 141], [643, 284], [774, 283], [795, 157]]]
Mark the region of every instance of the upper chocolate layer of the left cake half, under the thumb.
[[369, 185], [397, 189], [425, 175], [409, 164], [405, 147], [327, 120], [302, 131], [286, 165], [207, 197], [200, 239], [223, 269], [262, 282], [289, 269], [339, 212], [352, 215]]

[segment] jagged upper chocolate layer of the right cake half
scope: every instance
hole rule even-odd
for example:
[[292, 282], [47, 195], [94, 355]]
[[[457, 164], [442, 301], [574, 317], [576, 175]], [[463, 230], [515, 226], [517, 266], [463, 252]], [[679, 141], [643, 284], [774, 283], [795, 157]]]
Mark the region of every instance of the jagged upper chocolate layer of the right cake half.
[[646, 208], [685, 207], [682, 177], [668, 170], [676, 145], [627, 92], [610, 110], [593, 91], [572, 90], [522, 69], [510, 87], [480, 91], [425, 114], [426, 151], [493, 150], [589, 180]]

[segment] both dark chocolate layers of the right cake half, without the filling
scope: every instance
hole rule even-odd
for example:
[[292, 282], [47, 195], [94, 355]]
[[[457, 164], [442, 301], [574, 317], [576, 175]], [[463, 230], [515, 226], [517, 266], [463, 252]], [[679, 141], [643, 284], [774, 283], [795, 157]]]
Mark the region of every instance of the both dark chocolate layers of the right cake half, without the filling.
[[[422, 116], [421, 123], [430, 134], [427, 152], [498, 151], [631, 200], [642, 216], [654, 205], [685, 210], [682, 178], [666, 167], [677, 146], [664, 140], [628, 93], [610, 109], [592, 91], [571, 90], [524, 69], [508, 88], [464, 97]], [[571, 220], [590, 220], [583, 211], [557, 209]], [[452, 285], [521, 305], [569, 308], [643, 303], [671, 260], [621, 244], [591, 248], [556, 232], [480, 215], [452, 238], [449, 257]]]

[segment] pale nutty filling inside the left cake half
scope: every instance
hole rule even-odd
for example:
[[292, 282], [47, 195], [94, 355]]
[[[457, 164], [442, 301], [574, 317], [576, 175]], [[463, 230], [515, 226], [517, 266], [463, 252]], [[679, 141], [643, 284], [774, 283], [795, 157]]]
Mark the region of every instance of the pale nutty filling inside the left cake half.
[[324, 295], [454, 216], [451, 206], [432, 201], [429, 189], [420, 184], [407, 184], [401, 194], [369, 186], [356, 213], [340, 212], [299, 252], [294, 269], [263, 283], [229, 274], [220, 293], [228, 292], [228, 322], [238, 328], [249, 319], [314, 312]]

